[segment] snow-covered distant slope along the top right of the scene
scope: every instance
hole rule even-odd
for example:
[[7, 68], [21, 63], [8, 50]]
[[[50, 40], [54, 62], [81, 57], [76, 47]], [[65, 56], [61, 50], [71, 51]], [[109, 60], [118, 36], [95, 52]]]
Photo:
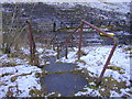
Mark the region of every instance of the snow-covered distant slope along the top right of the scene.
[[100, 2], [100, 1], [97, 1], [97, 2], [46, 2], [48, 4], [55, 4], [57, 7], [62, 7], [62, 8], [65, 8], [65, 9], [69, 9], [69, 8], [73, 8], [75, 7], [76, 4], [81, 4], [81, 6], [87, 6], [87, 7], [91, 7], [91, 8], [97, 8], [97, 9], [100, 9], [100, 10], [105, 10], [105, 11], [112, 11], [112, 12], [120, 12], [120, 13], [128, 13], [130, 12], [130, 2]]

